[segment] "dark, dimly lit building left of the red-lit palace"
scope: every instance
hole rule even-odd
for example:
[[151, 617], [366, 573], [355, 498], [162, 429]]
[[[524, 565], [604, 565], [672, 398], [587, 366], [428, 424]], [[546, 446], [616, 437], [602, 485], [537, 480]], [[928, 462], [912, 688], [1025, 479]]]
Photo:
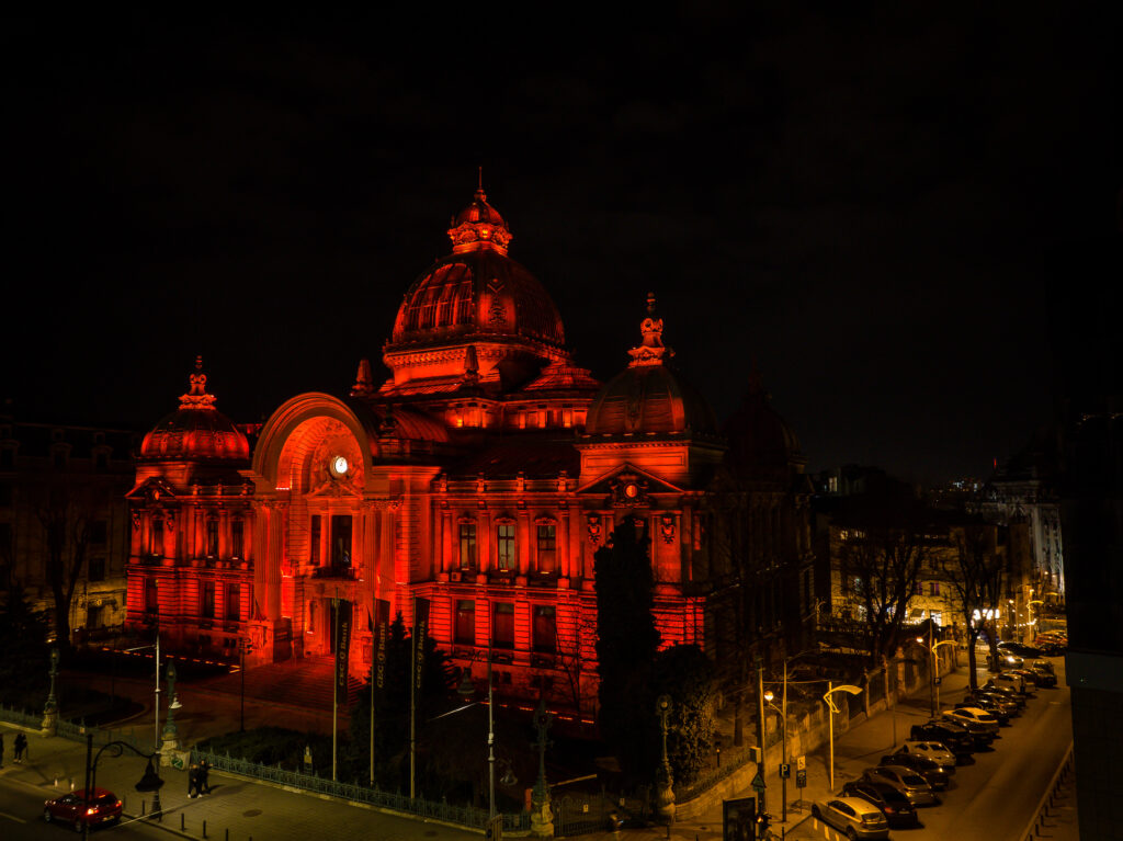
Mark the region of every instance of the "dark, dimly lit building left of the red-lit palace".
[[54, 621], [52, 578], [65, 593], [76, 566], [72, 641], [117, 633], [125, 623], [124, 497], [136, 439], [129, 430], [0, 414], [0, 594], [19, 584]]

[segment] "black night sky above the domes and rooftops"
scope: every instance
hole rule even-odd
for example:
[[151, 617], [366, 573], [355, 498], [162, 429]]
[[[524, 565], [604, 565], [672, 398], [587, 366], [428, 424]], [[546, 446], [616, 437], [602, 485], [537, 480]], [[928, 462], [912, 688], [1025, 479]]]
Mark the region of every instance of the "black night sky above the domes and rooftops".
[[719, 417], [755, 357], [813, 470], [985, 477], [1049, 420], [1044, 259], [1123, 184], [1110, 21], [532, 6], [9, 18], [0, 396], [144, 428], [197, 353], [238, 421], [345, 393], [482, 165], [602, 381], [651, 290]]

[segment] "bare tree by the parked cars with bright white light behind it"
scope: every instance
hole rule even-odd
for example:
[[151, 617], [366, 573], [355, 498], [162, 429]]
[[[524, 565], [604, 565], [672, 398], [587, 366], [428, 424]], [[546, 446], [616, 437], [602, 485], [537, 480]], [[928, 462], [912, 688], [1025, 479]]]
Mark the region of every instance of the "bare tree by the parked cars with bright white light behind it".
[[992, 657], [997, 657], [997, 607], [1002, 603], [1005, 564], [996, 547], [996, 529], [983, 522], [957, 529], [956, 551], [942, 556], [941, 570], [959, 598], [967, 629], [967, 661], [971, 689], [978, 688], [975, 643], [986, 631]]

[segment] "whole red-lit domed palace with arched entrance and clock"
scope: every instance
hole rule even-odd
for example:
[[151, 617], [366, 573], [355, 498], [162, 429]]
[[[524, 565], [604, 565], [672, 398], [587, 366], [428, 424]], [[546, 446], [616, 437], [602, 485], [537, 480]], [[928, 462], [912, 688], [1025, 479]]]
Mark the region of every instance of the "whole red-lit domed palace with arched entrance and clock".
[[364, 359], [349, 394], [298, 394], [246, 427], [197, 362], [128, 494], [128, 623], [184, 652], [245, 646], [261, 666], [332, 653], [338, 613], [363, 676], [380, 624], [423, 605], [458, 667], [482, 673], [491, 648], [501, 691], [579, 711], [596, 685], [593, 557], [627, 523], [646, 529], [664, 646], [800, 650], [811, 488], [759, 377], [719, 427], [648, 295], [602, 384], [482, 190], [448, 236], [405, 292], [384, 382]]

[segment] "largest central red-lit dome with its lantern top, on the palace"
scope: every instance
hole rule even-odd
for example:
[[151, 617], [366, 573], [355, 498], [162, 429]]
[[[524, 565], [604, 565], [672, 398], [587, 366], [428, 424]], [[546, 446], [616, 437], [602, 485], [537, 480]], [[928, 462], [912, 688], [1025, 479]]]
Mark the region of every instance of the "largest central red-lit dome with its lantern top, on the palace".
[[394, 320], [386, 353], [483, 336], [560, 348], [562, 317], [549, 294], [506, 246], [511, 231], [477, 190], [448, 230], [453, 253], [413, 282]]

